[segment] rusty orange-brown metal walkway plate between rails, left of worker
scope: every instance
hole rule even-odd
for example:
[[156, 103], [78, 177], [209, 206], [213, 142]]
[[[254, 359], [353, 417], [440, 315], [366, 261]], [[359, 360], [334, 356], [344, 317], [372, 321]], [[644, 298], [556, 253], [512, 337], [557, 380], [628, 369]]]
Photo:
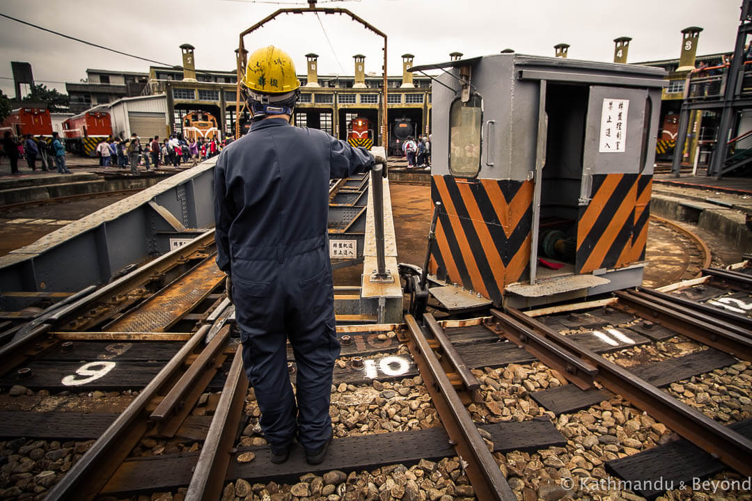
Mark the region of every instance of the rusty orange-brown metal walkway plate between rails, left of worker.
[[108, 326], [114, 332], [164, 332], [225, 279], [214, 259], [162, 289], [132, 312]]

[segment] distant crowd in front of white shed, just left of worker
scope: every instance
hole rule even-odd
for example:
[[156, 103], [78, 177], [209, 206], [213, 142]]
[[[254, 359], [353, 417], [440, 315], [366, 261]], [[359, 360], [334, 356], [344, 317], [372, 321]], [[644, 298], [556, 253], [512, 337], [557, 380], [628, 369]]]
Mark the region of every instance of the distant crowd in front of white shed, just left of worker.
[[188, 162], [196, 165], [206, 158], [219, 155], [229, 143], [232, 143], [232, 137], [223, 141], [217, 137], [208, 140], [193, 137], [186, 140], [179, 134], [171, 134], [161, 142], [159, 136], [149, 137], [141, 143], [141, 138], [134, 132], [129, 140], [114, 137], [102, 140], [96, 147], [96, 155], [99, 156], [102, 167], [112, 165], [125, 169], [130, 166], [131, 172], [135, 174], [138, 165], [144, 165], [147, 171], [152, 167], [158, 168], [159, 165], [172, 165], [176, 168]]

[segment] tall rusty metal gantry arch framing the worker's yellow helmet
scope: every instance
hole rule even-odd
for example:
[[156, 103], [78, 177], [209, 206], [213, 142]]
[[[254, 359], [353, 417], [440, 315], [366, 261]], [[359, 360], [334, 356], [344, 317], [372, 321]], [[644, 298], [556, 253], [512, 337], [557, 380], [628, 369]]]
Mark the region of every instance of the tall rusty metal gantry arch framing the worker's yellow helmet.
[[[389, 137], [387, 137], [389, 134], [389, 128], [387, 127], [387, 35], [384, 32], [381, 32], [381, 30], [372, 26], [367, 21], [363, 20], [361, 17], [348, 11], [347, 9], [316, 7], [316, 2], [317, 0], [308, 0], [308, 8], [284, 8], [274, 11], [274, 13], [269, 14], [267, 17], [260, 20], [258, 23], [254, 24], [249, 29], [240, 34], [238, 50], [236, 51], [236, 53], [238, 54], [236, 58], [236, 61], [238, 63], [238, 83], [235, 86], [235, 139], [238, 139], [240, 137], [239, 122], [241, 112], [247, 109], [247, 103], [245, 102], [245, 100], [241, 101], [241, 82], [243, 81], [245, 67], [248, 64], [248, 51], [245, 49], [244, 37], [252, 32], [255, 32], [257, 29], [261, 28], [269, 21], [274, 20], [274, 18], [276, 18], [280, 14], [305, 14], [307, 12], [318, 14], [321, 12], [323, 14], [347, 14], [347, 16], [350, 16], [353, 21], [362, 24], [366, 29], [369, 29], [371, 30], [371, 32], [374, 32], [376, 35], [384, 38], [384, 98], [381, 102], [381, 137], [384, 147], [386, 147], [389, 144]], [[241, 102], [243, 103], [242, 107]]]

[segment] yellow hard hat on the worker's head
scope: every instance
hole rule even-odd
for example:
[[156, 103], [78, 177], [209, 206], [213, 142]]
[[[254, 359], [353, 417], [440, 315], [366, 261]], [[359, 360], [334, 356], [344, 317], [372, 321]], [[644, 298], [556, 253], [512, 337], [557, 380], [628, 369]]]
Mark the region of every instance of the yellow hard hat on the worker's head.
[[273, 45], [250, 55], [243, 83], [250, 91], [263, 94], [284, 94], [300, 87], [293, 58]]

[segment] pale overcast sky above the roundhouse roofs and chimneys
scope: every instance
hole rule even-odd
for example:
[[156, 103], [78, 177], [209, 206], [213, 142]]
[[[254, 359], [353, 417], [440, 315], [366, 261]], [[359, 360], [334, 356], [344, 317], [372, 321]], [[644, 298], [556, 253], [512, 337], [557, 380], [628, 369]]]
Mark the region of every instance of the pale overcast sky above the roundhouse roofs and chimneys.
[[[167, 65], [182, 64], [180, 44], [196, 47], [196, 68], [232, 70], [238, 35], [278, 8], [302, 0], [2, 0], [0, 12], [76, 38]], [[698, 54], [733, 50], [741, 0], [319, 0], [347, 8], [389, 37], [389, 74], [402, 74], [403, 53], [414, 64], [498, 53], [553, 56], [570, 44], [570, 59], [611, 62], [613, 39], [632, 37], [629, 62], [678, 58], [681, 29], [700, 26]], [[326, 33], [326, 35], [325, 35]], [[327, 41], [328, 36], [328, 41]], [[331, 45], [330, 45], [331, 43]], [[353, 74], [356, 53], [365, 71], [381, 74], [383, 41], [347, 17], [278, 17], [248, 35], [249, 49], [274, 44], [305, 74], [305, 54], [319, 54], [319, 74]], [[332, 50], [333, 48], [333, 50]], [[0, 17], [0, 88], [13, 95], [11, 61], [32, 63], [37, 83], [65, 91], [86, 68], [148, 71], [149, 62], [120, 56]]]

